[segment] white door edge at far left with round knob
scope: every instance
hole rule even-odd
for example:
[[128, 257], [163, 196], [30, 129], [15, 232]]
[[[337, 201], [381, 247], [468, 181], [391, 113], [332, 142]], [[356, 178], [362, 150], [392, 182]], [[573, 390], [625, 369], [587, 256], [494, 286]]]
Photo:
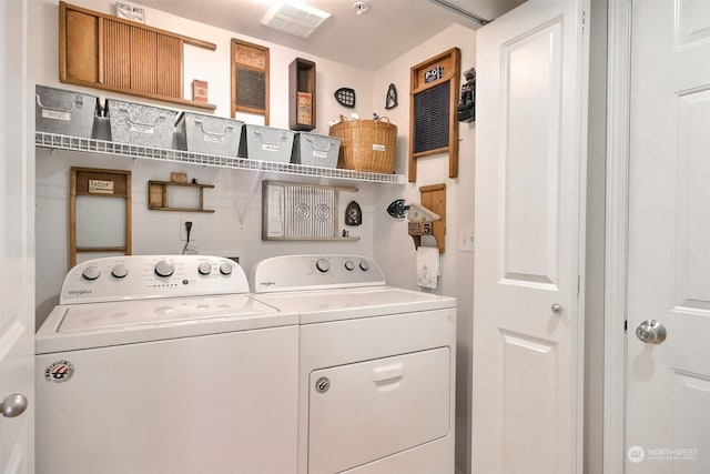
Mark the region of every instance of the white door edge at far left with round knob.
[[[0, 472], [34, 472], [34, 167], [26, 0], [0, 1]], [[26, 406], [27, 410], [24, 410]]]

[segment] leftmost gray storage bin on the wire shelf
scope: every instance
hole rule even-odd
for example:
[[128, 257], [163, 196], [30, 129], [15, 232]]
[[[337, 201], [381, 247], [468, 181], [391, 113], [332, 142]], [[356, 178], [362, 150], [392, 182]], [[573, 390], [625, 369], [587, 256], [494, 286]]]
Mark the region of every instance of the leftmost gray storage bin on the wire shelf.
[[99, 112], [99, 98], [83, 92], [34, 87], [34, 129], [90, 139]]

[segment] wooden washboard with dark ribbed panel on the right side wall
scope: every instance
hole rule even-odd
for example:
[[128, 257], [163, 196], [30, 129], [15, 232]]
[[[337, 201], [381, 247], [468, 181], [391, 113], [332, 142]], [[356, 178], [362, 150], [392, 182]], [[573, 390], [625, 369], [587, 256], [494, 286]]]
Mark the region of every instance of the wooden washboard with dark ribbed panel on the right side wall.
[[[432, 154], [448, 153], [448, 177], [458, 177], [458, 122], [456, 120], [456, 108], [458, 104], [458, 89], [460, 75], [460, 50], [452, 48], [434, 58], [430, 58], [410, 69], [410, 90], [409, 90], [409, 172], [408, 180], [410, 183], [417, 180], [416, 160], [418, 158]], [[437, 148], [417, 149], [417, 102], [435, 91], [435, 88], [444, 88], [448, 85], [448, 103], [437, 103], [438, 107], [447, 108], [446, 121], [435, 124], [434, 127], [443, 127], [435, 131], [447, 133], [448, 144]], [[422, 94], [422, 95], [420, 95]], [[430, 123], [427, 121], [427, 130], [430, 130]]]

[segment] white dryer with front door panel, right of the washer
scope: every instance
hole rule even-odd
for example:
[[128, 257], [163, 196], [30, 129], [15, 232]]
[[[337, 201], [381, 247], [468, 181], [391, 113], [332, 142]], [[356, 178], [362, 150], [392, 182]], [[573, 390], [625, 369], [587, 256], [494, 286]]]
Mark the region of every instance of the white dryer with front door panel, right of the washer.
[[298, 313], [300, 474], [454, 473], [455, 299], [387, 286], [364, 256], [277, 256], [251, 276]]

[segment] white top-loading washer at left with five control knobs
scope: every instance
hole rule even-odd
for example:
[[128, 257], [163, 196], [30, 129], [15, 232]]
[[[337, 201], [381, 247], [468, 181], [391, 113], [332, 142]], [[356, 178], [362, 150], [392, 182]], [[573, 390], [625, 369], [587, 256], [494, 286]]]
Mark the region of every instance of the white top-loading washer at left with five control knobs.
[[37, 333], [37, 472], [294, 473], [296, 323], [227, 259], [77, 265]]

